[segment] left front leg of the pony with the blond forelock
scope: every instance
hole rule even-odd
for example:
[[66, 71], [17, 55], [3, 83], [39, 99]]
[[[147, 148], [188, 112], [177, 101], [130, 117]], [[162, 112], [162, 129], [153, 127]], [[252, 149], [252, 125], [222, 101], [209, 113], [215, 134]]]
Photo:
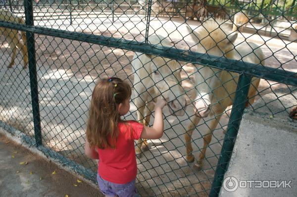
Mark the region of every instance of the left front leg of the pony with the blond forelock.
[[187, 133], [185, 133], [186, 150], [187, 150], [186, 160], [189, 163], [192, 163], [195, 160], [195, 157], [192, 154], [193, 147], [192, 147], [192, 144], [191, 144], [191, 139], [192, 139], [193, 131], [194, 131], [196, 125], [198, 125], [200, 119], [201, 118], [199, 118], [197, 116], [194, 116], [194, 119], [191, 118], [192, 122], [191, 122], [190, 126], [188, 127]]

